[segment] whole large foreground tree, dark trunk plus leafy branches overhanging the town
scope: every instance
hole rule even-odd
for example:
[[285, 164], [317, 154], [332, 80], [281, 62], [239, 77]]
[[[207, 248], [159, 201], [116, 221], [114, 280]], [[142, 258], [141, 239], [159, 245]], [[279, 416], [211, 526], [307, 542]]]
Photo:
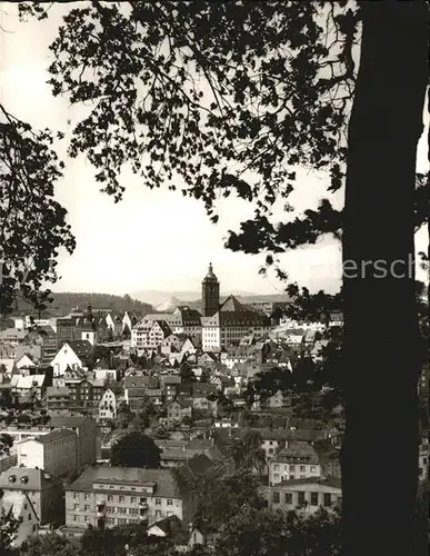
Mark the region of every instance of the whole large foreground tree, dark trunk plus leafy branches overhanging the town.
[[[116, 200], [130, 165], [148, 187], [169, 183], [200, 199], [214, 222], [218, 198], [252, 201], [254, 217], [230, 232], [227, 246], [264, 252], [281, 279], [288, 276], [278, 254], [323, 235], [342, 240], [349, 267], [376, 260], [407, 267], [427, 219], [423, 199], [428, 207], [427, 186], [416, 176], [427, 43], [424, 0], [92, 2], [64, 17], [51, 46], [51, 86], [72, 103], [92, 101], [69, 152], [88, 157]], [[329, 192], [346, 183], [344, 209], [323, 199], [304, 218], [289, 219], [299, 166], [326, 171]], [[274, 215], [280, 203], [283, 222]], [[346, 550], [414, 554], [413, 276], [343, 278]], [[381, 485], [374, 461], [396, 451], [401, 428], [407, 446]], [[407, 478], [394, 493], [399, 476]]]

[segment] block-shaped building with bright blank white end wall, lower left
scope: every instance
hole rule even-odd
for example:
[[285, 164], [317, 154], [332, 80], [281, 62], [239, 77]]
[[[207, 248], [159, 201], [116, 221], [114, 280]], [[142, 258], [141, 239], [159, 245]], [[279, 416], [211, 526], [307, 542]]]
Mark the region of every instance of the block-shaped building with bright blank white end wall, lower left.
[[77, 470], [77, 435], [73, 430], [53, 430], [17, 444], [18, 466], [39, 468], [62, 477]]

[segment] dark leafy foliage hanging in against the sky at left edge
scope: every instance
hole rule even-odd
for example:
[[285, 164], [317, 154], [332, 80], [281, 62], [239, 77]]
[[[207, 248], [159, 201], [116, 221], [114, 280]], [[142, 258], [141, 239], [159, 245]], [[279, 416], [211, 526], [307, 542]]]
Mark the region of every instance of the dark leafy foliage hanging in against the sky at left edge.
[[[56, 282], [59, 250], [72, 252], [67, 210], [54, 200], [64, 163], [56, 136], [37, 130], [0, 105], [0, 316], [18, 299], [40, 311], [50, 299], [43, 282]], [[59, 133], [61, 138], [62, 135]]]

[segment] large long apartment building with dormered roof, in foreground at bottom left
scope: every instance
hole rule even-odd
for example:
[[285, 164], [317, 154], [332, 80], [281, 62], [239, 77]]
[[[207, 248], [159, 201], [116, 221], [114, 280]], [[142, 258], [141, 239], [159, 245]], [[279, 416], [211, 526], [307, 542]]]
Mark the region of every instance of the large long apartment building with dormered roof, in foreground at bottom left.
[[83, 533], [88, 525], [151, 525], [172, 515], [189, 522], [194, 507], [170, 469], [91, 467], [67, 487], [66, 526]]

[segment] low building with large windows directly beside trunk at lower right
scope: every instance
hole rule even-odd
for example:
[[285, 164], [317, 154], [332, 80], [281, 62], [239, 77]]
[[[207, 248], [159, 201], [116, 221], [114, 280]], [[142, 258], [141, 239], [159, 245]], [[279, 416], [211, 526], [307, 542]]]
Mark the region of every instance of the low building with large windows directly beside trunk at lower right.
[[309, 477], [261, 486], [260, 495], [272, 510], [302, 509], [314, 514], [319, 507], [333, 509], [341, 503], [341, 480], [337, 477]]

